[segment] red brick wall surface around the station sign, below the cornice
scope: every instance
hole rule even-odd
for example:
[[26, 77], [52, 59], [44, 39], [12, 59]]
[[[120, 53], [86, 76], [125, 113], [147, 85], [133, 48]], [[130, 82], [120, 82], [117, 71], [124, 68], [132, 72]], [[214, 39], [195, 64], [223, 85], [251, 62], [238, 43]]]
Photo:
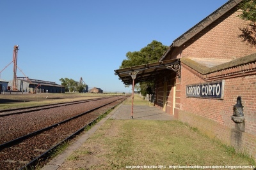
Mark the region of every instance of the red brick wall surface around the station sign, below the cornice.
[[[223, 100], [186, 97], [186, 85], [204, 82], [182, 66], [179, 120], [237, 150], [243, 148], [256, 159], [256, 143], [252, 143], [256, 141], [256, 74], [225, 79]], [[237, 124], [231, 120], [238, 96], [244, 106], [244, 132], [237, 131]]]

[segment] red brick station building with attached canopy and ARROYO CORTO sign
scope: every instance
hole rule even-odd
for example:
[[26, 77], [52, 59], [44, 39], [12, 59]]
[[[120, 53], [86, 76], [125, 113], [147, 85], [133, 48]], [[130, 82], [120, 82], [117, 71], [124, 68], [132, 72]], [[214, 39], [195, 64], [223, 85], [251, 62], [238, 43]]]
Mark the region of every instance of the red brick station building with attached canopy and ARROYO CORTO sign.
[[155, 106], [256, 159], [256, 48], [239, 38], [246, 27], [239, 3], [228, 1], [175, 39], [155, 63], [168, 69], [145, 64], [115, 72], [125, 84], [131, 72], [135, 83], [154, 80]]

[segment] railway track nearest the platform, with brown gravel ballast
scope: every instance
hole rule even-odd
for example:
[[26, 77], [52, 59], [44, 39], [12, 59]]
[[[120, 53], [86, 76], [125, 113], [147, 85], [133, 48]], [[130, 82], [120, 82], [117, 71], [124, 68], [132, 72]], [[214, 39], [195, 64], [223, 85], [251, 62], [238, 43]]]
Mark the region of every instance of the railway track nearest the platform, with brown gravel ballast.
[[[28, 134], [16, 136], [17, 138], [0, 142], [0, 166], [4, 169], [33, 169], [32, 167], [47, 159], [49, 152], [54, 150], [57, 146], [61, 145], [64, 141], [73, 138], [79, 132], [84, 130], [84, 127], [90, 125], [95, 121], [102, 113], [115, 107], [129, 96], [118, 96], [108, 99], [101, 99], [97, 101], [90, 101], [86, 104], [75, 104], [74, 108], [83, 107], [82, 105], [91, 104], [88, 110], [70, 114], [65, 119], [51, 123], [51, 125], [45, 125], [43, 128], [36, 131], [29, 132]], [[62, 106], [63, 108], [72, 107]], [[88, 107], [87, 107], [88, 108]], [[49, 109], [48, 111], [56, 110], [56, 108]], [[75, 109], [74, 109], [75, 110]], [[38, 113], [36, 113], [38, 112]], [[42, 111], [35, 111], [32, 113], [20, 114], [26, 115], [26, 121], [29, 122], [31, 115], [37, 115]], [[54, 114], [55, 117], [58, 113], [52, 111], [50, 114]], [[20, 119], [20, 115], [9, 115], [6, 117], [0, 117], [0, 120], [8, 117]], [[45, 124], [49, 119], [45, 118]], [[61, 120], [61, 121], [60, 121]], [[2, 129], [1, 129], [2, 130]], [[20, 129], [21, 130], [21, 129]], [[15, 134], [15, 132], [13, 132]]]

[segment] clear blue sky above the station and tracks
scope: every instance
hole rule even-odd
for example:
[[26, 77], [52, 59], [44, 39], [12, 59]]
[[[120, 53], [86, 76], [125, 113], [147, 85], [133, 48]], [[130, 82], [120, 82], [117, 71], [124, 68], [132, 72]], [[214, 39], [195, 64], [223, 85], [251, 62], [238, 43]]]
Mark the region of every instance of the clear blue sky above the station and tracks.
[[[80, 77], [90, 88], [131, 92], [115, 69], [127, 52], [153, 40], [176, 38], [227, 0], [1, 0], [0, 71], [12, 62], [29, 78], [54, 81]], [[17, 69], [17, 76], [24, 76]], [[13, 64], [1, 72], [12, 80]]]

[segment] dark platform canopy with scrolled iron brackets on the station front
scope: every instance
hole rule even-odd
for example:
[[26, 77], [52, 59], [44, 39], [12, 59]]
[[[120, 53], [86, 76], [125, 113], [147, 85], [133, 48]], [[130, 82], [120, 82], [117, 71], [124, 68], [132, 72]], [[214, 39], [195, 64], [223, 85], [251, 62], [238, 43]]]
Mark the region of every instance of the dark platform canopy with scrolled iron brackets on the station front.
[[180, 60], [163, 60], [160, 62], [143, 64], [140, 66], [116, 69], [115, 75], [118, 75], [119, 79], [122, 80], [125, 85], [132, 85], [132, 74], [136, 74], [135, 83], [139, 83], [143, 81], [156, 80], [157, 74], [165, 69], [175, 71], [178, 76], [180, 76]]

